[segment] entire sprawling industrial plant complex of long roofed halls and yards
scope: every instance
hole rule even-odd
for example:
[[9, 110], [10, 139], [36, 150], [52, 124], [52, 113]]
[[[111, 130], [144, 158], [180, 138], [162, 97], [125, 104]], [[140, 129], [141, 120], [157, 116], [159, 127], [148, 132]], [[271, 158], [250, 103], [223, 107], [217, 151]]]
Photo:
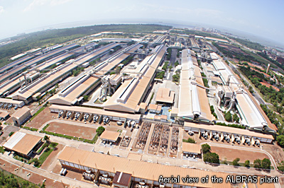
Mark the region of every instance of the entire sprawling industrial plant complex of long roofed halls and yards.
[[[0, 167], [46, 187], [243, 187], [158, 179], [282, 176], [278, 127], [212, 41], [230, 48], [224, 37], [171, 28], [18, 54], [0, 68]], [[210, 153], [217, 163], [205, 160]], [[261, 170], [255, 160], [264, 158]]]

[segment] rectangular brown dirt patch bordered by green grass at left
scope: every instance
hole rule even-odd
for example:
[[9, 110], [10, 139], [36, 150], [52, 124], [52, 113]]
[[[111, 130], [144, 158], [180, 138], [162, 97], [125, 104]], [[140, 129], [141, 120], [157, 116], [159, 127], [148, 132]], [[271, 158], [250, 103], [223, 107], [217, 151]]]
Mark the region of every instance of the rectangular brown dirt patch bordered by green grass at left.
[[73, 124], [63, 124], [58, 122], [51, 122], [48, 129], [45, 131], [55, 132], [59, 134], [66, 134], [68, 136], [76, 136], [82, 139], [92, 140], [96, 135], [95, 128], [83, 127]]

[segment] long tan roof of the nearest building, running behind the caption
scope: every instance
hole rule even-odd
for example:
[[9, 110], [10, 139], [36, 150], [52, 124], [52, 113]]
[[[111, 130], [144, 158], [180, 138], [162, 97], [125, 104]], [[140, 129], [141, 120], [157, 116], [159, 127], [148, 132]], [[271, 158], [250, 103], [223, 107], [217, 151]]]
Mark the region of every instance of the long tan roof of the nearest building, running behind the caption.
[[[209, 175], [209, 177], [216, 175], [217, 177], [222, 177], [223, 180], [226, 180], [226, 176], [228, 175], [225, 172], [211, 172], [199, 169], [181, 168], [173, 165], [161, 165], [157, 163], [129, 160], [127, 158], [117, 158], [113, 155], [82, 151], [70, 146], [66, 146], [63, 149], [58, 156], [58, 159], [107, 172], [125, 172], [131, 174], [133, 177], [154, 181], [158, 181], [160, 175], [163, 175], [163, 177], [171, 177], [172, 175], [173, 177], [177, 177], [178, 175], [180, 175], [180, 177], [187, 177], [187, 175], [189, 175], [190, 177], [199, 177], [199, 179], [206, 177], [207, 175]], [[231, 184], [226, 183], [226, 181], [219, 184], [214, 184], [211, 181], [208, 183], [202, 183], [201, 181], [195, 183], [183, 183], [180, 181], [178, 184], [186, 184], [194, 187], [231, 188]]]

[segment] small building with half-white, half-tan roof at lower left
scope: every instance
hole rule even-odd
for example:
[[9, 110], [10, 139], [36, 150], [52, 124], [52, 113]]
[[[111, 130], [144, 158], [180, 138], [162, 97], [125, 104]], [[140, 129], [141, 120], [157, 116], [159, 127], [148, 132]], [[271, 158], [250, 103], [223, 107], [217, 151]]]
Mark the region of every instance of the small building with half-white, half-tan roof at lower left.
[[6, 150], [14, 151], [26, 158], [31, 158], [33, 151], [36, 151], [40, 147], [42, 139], [42, 137], [33, 134], [16, 132], [3, 146]]

